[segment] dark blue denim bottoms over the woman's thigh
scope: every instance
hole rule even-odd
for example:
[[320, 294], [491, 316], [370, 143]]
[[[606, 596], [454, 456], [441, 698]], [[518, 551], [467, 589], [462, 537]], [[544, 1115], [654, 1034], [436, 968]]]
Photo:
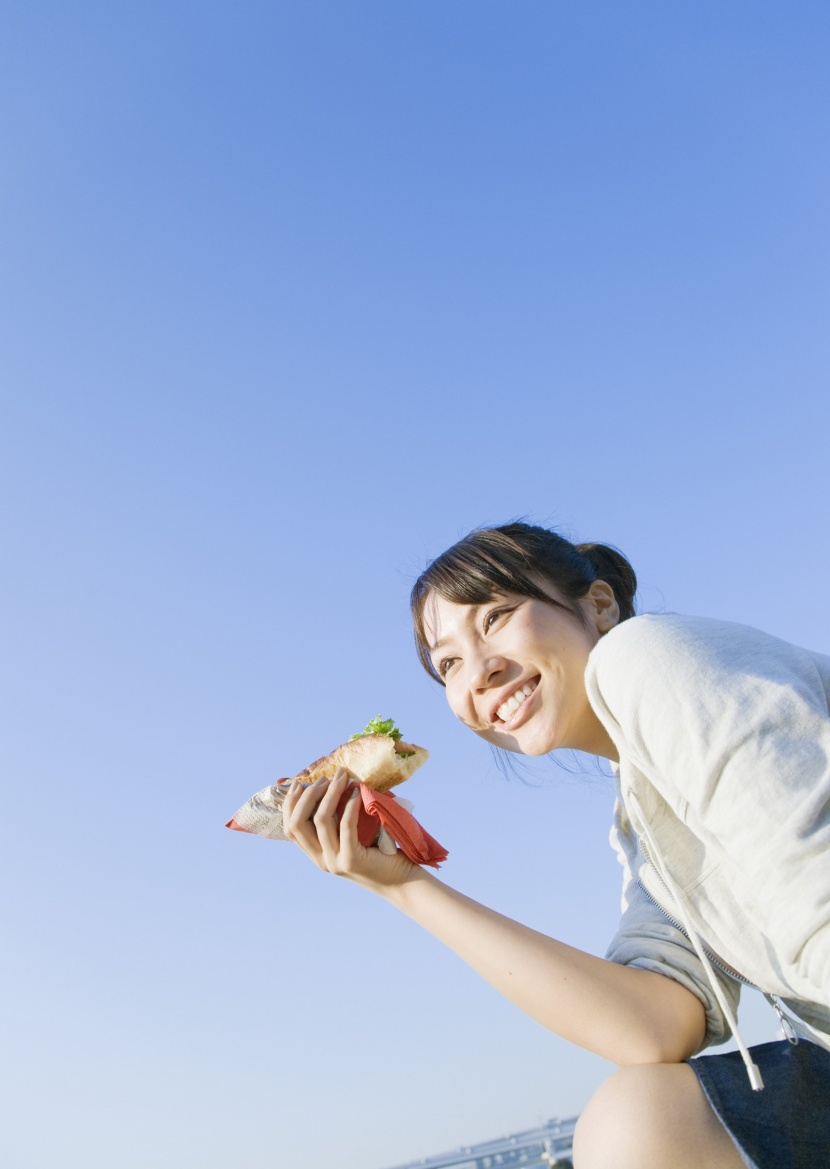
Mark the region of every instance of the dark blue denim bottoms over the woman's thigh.
[[745, 1164], [830, 1167], [830, 1051], [782, 1039], [749, 1052], [761, 1068], [761, 1092], [752, 1090], [738, 1051], [689, 1060]]

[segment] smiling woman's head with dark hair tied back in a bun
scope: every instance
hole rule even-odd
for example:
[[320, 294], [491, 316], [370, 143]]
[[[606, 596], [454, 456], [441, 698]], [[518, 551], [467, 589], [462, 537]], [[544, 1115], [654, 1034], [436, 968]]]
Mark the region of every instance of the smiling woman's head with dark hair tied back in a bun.
[[634, 615], [636, 589], [607, 545], [574, 546], [527, 524], [473, 532], [413, 589], [419, 657], [456, 717], [494, 746], [616, 760], [585, 672], [600, 637]]

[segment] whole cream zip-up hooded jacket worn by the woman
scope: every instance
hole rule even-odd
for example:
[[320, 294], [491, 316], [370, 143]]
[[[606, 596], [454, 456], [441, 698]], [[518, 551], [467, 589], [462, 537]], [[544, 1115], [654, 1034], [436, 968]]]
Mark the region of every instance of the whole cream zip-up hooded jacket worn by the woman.
[[830, 658], [644, 615], [601, 638], [586, 686], [620, 754], [607, 957], [697, 995], [704, 1046], [733, 1028], [742, 977], [830, 1049]]

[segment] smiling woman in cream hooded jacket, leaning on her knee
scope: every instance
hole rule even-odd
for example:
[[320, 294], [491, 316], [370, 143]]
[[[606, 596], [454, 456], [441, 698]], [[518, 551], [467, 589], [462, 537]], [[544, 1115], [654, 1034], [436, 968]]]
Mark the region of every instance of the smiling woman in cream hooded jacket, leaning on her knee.
[[[438, 556], [411, 599], [421, 660], [465, 726], [611, 761], [624, 908], [606, 959], [361, 848], [357, 801], [336, 816], [345, 773], [290, 791], [286, 833], [620, 1065], [580, 1119], [576, 1169], [830, 1165], [830, 658], [635, 617], [635, 588], [615, 549], [509, 524]], [[735, 1030], [741, 980], [786, 1004], [790, 1039], [693, 1058]]]

